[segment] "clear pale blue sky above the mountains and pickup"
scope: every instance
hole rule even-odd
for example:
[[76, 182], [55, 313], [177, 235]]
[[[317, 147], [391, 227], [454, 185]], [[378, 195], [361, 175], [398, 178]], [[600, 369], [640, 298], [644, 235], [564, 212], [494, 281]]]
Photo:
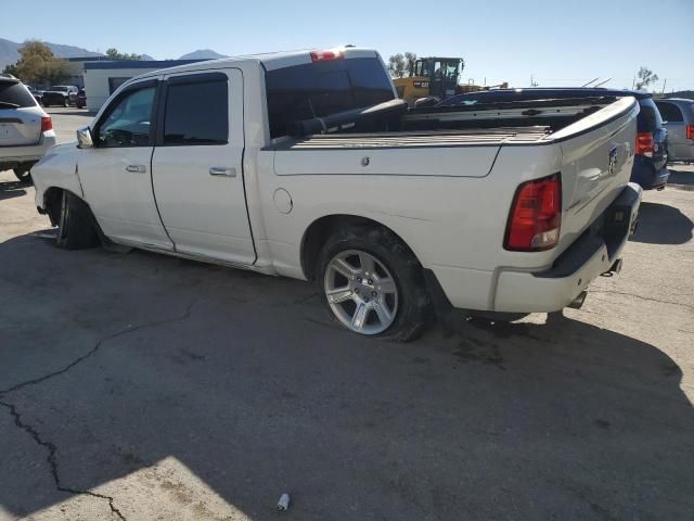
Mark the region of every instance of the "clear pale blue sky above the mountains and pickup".
[[[527, 86], [631, 87], [639, 66], [666, 90], [694, 89], [694, 0], [300, 2], [264, 0], [4, 0], [0, 37], [39, 38], [104, 51], [178, 58], [209, 48], [223, 54], [355, 43], [395, 52], [462, 55], [465, 79]], [[162, 8], [166, 5], [166, 8]], [[38, 13], [48, 13], [40, 15]]]

